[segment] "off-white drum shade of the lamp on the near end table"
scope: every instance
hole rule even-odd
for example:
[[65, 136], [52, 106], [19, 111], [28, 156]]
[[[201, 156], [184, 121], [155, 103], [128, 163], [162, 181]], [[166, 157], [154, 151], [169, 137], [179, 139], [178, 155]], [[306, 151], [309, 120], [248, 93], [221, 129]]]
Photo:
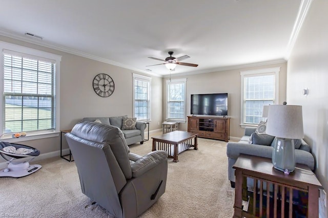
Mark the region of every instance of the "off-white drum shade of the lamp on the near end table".
[[284, 139], [304, 138], [302, 106], [269, 105], [265, 132], [268, 135]]

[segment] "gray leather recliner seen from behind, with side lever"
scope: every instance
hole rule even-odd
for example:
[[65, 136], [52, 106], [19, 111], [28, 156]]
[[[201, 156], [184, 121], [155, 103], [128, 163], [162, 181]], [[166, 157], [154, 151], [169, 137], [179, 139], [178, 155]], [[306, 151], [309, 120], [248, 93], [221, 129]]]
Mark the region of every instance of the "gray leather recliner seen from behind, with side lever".
[[77, 123], [65, 137], [82, 192], [116, 217], [137, 217], [165, 192], [166, 151], [132, 154], [121, 130], [102, 123]]

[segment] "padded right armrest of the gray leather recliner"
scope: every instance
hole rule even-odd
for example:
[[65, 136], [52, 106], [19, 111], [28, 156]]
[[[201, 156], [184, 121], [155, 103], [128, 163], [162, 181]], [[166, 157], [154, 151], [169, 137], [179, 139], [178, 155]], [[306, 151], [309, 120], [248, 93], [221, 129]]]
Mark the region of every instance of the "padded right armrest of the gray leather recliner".
[[157, 166], [163, 161], [168, 160], [168, 154], [163, 150], [155, 150], [139, 158], [135, 163], [131, 164], [132, 177], [139, 177], [151, 168]]

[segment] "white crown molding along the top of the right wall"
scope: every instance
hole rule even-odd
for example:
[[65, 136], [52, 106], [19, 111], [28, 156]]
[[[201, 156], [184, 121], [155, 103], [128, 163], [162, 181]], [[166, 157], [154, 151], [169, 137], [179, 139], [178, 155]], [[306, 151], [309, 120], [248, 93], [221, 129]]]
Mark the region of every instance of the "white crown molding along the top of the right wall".
[[292, 31], [291, 37], [289, 39], [289, 42], [288, 42], [288, 45], [286, 48], [286, 53], [285, 53], [285, 57], [284, 57], [286, 60], [288, 60], [291, 55], [292, 49], [293, 49], [296, 39], [298, 37], [298, 33], [304, 23], [304, 19], [305, 19], [306, 15], [309, 12], [312, 1], [313, 0], [302, 0], [301, 1], [300, 7], [298, 9], [298, 14], [297, 14], [297, 17], [295, 20], [295, 24], [293, 27], [293, 31]]

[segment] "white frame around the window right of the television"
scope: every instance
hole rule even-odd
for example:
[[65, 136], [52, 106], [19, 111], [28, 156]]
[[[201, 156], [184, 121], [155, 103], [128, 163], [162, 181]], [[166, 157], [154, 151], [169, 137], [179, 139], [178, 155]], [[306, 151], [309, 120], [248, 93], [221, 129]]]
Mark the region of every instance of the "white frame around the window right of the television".
[[240, 125], [241, 127], [247, 126], [257, 126], [257, 124], [250, 124], [244, 123], [245, 118], [245, 93], [244, 93], [244, 78], [245, 77], [256, 77], [256, 76], [263, 76], [263, 75], [274, 75], [275, 76], [275, 95], [273, 99], [273, 104], [279, 102], [279, 72], [280, 67], [276, 68], [264, 68], [258, 70], [249, 70], [249, 71], [240, 71], [241, 77], [241, 94], [240, 94]]

